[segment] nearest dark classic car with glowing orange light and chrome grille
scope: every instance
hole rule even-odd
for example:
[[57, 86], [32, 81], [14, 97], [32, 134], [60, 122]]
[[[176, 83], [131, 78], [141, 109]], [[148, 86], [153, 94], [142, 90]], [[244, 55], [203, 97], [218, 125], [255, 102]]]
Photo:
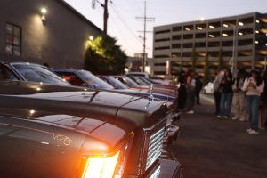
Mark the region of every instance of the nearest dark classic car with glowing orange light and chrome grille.
[[165, 102], [86, 90], [0, 82], [1, 177], [182, 177], [159, 158]]

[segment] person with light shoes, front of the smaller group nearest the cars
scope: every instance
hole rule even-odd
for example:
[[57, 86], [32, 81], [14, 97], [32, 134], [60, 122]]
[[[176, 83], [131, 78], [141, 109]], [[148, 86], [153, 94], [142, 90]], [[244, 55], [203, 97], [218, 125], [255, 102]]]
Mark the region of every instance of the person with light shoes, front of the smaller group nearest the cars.
[[194, 104], [195, 104], [195, 88], [196, 88], [196, 80], [189, 75], [186, 78], [186, 103], [185, 109], [186, 113], [194, 114]]

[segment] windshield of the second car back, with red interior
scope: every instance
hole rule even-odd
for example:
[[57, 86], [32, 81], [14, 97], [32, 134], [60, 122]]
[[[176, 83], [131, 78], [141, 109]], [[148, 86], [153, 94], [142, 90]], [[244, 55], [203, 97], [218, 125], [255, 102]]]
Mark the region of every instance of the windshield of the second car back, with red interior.
[[80, 70], [77, 71], [78, 75], [84, 77], [86, 82], [91, 85], [93, 88], [102, 89], [102, 90], [112, 90], [114, 87], [112, 85], [107, 84], [101, 78], [94, 76], [91, 72]]

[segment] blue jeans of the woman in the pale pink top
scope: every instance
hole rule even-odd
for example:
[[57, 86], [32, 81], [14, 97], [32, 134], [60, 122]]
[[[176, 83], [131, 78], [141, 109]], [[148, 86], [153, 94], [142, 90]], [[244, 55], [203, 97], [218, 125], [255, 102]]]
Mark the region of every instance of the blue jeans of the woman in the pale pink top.
[[246, 100], [250, 128], [253, 130], [258, 130], [261, 98], [257, 95], [247, 95]]

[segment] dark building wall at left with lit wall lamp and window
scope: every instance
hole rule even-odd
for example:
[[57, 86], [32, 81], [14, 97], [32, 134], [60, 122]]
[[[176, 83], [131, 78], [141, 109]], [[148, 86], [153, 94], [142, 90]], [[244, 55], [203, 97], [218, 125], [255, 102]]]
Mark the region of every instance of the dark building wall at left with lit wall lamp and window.
[[[47, 13], [41, 20], [41, 8]], [[54, 68], [82, 68], [88, 36], [101, 29], [62, 0], [1, 0], [0, 60], [49, 63]], [[21, 28], [21, 55], [5, 52], [6, 23]]]

